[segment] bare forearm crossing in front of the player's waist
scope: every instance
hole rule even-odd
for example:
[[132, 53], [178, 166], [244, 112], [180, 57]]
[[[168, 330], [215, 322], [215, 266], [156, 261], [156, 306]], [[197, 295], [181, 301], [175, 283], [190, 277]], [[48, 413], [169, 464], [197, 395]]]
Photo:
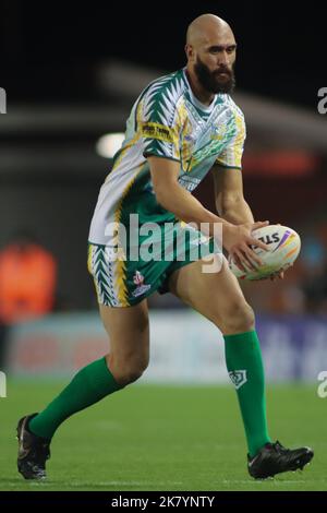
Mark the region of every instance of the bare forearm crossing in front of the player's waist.
[[[157, 200], [165, 208], [172, 212], [178, 218], [185, 223], [194, 223], [198, 229], [201, 229], [202, 224], [208, 223], [209, 234], [206, 232], [206, 235], [214, 235], [214, 225], [216, 223], [222, 223], [226, 226], [229, 225], [227, 220], [205, 208], [196, 198], [183, 189], [179, 183], [167, 188], [167, 190], [159, 194], [157, 193]], [[207, 230], [205, 229], [202, 231]]]

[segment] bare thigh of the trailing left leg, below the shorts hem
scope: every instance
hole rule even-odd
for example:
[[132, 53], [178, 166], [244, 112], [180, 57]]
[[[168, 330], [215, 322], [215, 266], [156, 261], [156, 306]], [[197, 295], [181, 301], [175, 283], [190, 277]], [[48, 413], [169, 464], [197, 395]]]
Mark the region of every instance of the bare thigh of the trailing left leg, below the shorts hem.
[[149, 325], [147, 300], [133, 307], [99, 305], [104, 326], [110, 341], [110, 354], [116, 360], [148, 360]]

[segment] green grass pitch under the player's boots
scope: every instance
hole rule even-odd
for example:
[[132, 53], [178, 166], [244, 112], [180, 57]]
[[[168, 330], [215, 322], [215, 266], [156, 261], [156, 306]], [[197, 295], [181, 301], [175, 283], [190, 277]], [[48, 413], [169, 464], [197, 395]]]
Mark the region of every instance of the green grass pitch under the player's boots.
[[69, 419], [53, 439], [48, 480], [24, 481], [15, 469], [16, 420], [60, 390], [8, 384], [0, 398], [0, 490], [327, 490], [327, 399], [311, 386], [268, 391], [271, 437], [315, 450], [303, 473], [249, 477], [231, 386], [134, 385]]

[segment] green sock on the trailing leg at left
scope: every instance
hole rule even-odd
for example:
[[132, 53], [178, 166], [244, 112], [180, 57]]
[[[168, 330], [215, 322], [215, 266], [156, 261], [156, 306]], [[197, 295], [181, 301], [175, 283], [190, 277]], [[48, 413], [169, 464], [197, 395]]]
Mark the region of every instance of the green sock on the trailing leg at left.
[[68, 417], [122, 389], [109, 371], [106, 358], [81, 369], [70, 384], [28, 423], [38, 437], [51, 439]]

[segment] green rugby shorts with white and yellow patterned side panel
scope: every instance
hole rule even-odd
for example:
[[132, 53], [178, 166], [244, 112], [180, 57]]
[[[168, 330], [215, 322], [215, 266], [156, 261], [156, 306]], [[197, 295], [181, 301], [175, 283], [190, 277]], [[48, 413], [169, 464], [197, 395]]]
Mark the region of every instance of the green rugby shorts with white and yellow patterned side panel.
[[[88, 242], [87, 267], [95, 283], [99, 305], [131, 307], [156, 290], [169, 291], [168, 281], [178, 269], [221, 249], [210, 237], [183, 222], [166, 230], [164, 224], [155, 237], [138, 237], [138, 246], [125, 244], [118, 258], [118, 247]], [[165, 234], [164, 234], [165, 229]], [[132, 255], [131, 255], [132, 250]]]

